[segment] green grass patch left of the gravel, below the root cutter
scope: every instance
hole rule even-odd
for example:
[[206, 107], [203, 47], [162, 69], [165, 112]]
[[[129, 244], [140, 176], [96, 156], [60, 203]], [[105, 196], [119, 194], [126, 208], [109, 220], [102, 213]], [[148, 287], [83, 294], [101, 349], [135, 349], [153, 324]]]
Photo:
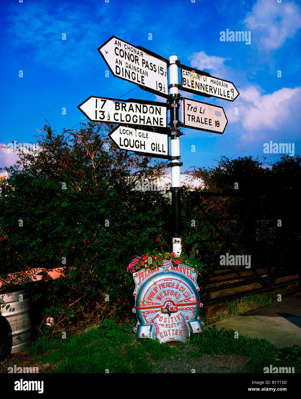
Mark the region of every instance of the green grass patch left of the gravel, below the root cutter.
[[117, 340], [105, 336], [103, 328], [64, 339], [60, 335], [40, 336], [28, 345], [26, 353], [44, 365], [55, 364], [56, 373], [149, 373], [148, 352], [154, 360], [169, 359], [177, 353], [156, 341], [136, 340], [130, 324], [120, 330]]

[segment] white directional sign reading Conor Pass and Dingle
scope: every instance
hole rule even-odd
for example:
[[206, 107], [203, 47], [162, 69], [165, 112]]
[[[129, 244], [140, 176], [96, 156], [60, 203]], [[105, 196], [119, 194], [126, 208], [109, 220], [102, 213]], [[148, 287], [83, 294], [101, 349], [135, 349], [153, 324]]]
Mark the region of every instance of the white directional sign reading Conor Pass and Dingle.
[[168, 60], [112, 36], [98, 49], [114, 76], [168, 98]]

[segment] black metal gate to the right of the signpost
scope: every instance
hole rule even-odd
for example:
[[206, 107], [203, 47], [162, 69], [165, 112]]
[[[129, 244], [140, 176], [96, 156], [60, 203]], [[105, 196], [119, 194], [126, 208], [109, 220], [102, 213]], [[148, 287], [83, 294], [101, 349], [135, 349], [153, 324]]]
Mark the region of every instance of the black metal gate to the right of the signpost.
[[[202, 205], [202, 199], [210, 198], [210, 197], [224, 197], [224, 198], [242, 198], [244, 199], [245, 209], [239, 216], [230, 216], [230, 217], [211, 217], [210, 214], [204, 209]], [[289, 276], [292, 273], [296, 274], [296, 271], [299, 271], [299, 267], [295, 265], [287, 265], [285, 263], [285, 259], [287, 253], [293, 244], [293, 237], [297, 227], [297, 220], [293, 227], [291, 228], [291, 234], [285, 240], [285, 245], [280, 248], [277, 246], [277, 238], [279, 239], [281, 233], [279, 233], [279, 229], [277, 231], [276, 220], [272, 218], [266, 218], [265, 216], [265, 205], [267, 201], [270, 201], [271, 198], [266, 194], [236, 194], [235, 192], [222, 192], [222, 193], [213, 193], [213, 192], [186, 192], [186, 219], [187, 221], [191, 221], [194, 219], [195, 221], [200, 221], [202, 223], [210, 223], [214, 230], [217, 232], [217, 236], [210, 239], [200, 239], [194, 240], [192, 244], [197, 245], [200, 243], [209, 243], [209, 242], [221, 242], [223, 244], [222, 249], [219, 251], [218, 255], [209, 260], [207, 263], [208, 267], [206, 269], [206, 273], [202, 276], [202, 281], [199, 283], [200, 285], [200, 296], [202, 293], [208, 292], [206, 286], [208, 285], [209, 280], [214, 275], [214, 272], [218, 267], [220, 267], [220, 256], [225, 255], [226, 252], [230, 250], [235, 250], [233, 244], [238, 240], [240, 242], [248, 241], [253, 242], [253, 250], [252, 256], [255, 258], [255, 262], [251, 263], [250, 270], [253, 272], [252, 276], [243, 276], [241, 273], [246, 271], [246, 269], [238, 269], [232, 268], [233, 273], [235, 273], [239, 279], [242, 279], [240, 282], [234, 282], [233, 284], [227, 284], [227, 288], [242, 286], [248, 283], [259, 282], [261, 284], [261, 288], [257, 288], [255, 290], [251, 290], [249, 292], [233, 294], [227, 297], [218, 298], [216, 300], [211, 300], [206, 304], [212, 304], [216, 302], [220, 302], [221, 300], [230, 300], [237, 298], [239, 296], [245, 296], [248, 294], [253, 294], [257, 292], [262, 292], [270, 289], [271, 287], [279, 287], [283, 285], [287, 285], [290, 283], [295, 283], [301, 281], [300, 275], [298, 279], [292, 279], [285, 282], [285, 284], [275, 284], [275, 279], [279, 276]], [[257, 211], [257, 219], [258, 219], [258, 210], [259, 210], [259, 220], [256, 220], [256, 212]], [[198, 216], [198, 213], [201, 213], [202, 217]], [[223, 220], [233, 220], [237, 221], [236, 227], [234, 231], [229, 234], [225, 234], [220, 231], [218, 228], [218, 223]], [[243, 227], [247, 227], [247, 234], [242, 234], [244, 232]], [[253, 231], [252, 231], [253, 230]], [[250, 234], [251, 233], [253, 234]], [[285, 234], [285, 233], [282, 233]], [[251, 240], [251, 241], [250, 241]], [[283, 237], [282, 237], [283, 241]], [[273, 253], [273, 256], [272, 256]], [[257, 273], [258, 259], [263, 259], [264, 263], [267, 267], [266, 272], [264, 274]], [[229, 266], [230, 268], [230, 266]], [[227, 275], [229, 272], [219, 273], [218, 276], [221, 277], [220, 280], [215, 280], [214, 282], [219, 283], [223, 282], [222, 276]], [[222, 289], [217, 288], [217, 289]], [[213, 290], [213, 288], [210, 288]], [[214, 288], [216, 290], [216, 288]], [[205, 304], [205, 301], [204, 301]]]

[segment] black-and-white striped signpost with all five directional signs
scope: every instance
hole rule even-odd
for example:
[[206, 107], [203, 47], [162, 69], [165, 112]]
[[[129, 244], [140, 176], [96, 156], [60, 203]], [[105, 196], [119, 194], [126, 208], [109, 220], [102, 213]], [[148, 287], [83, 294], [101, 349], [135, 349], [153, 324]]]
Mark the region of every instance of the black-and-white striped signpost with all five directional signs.
[[[234, 101], [239, 95], [232, 82], [209, 73], [180, 65], [176, 55], [169, 60], [141, 46], [112, 36], [98, 48], [115, 77], [135, 83], [141, 89], [165, 97], [168, 105], [137, 99], [119, 100], [108, 97], [88, 97], [78, 109], [91, 122], [118, 124], [109, 136], [121, 150], [140, 156], [170, 160], [172, 192], [172, 251], [181, 252], [180, 201], [180, 126], [223, 134], [228, 123], [224, 109], [217, 105], [180, 97], [179, 87], [203, 97]], [[181, 85], [178, 84], [178, 68]], [[169, 85], [167, 68], [169, 69]], [[169, 94], [168, 94], [169, 92]], [[182, 122], [179, 120], [182, 100]], [[167, 127], [170, 109], [170, 127]], [[168, 146], [170, 137], [170, 154]]]

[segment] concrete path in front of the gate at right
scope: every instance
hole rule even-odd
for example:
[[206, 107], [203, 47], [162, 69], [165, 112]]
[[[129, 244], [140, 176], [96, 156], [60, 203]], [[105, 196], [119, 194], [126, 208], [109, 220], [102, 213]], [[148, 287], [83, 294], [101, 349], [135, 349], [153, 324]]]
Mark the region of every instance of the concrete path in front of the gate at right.
[[265, 338], [277, 348], [301, 346], [301, 292], [214, 324], [218, 330], [230, 328], [251, 338]]

